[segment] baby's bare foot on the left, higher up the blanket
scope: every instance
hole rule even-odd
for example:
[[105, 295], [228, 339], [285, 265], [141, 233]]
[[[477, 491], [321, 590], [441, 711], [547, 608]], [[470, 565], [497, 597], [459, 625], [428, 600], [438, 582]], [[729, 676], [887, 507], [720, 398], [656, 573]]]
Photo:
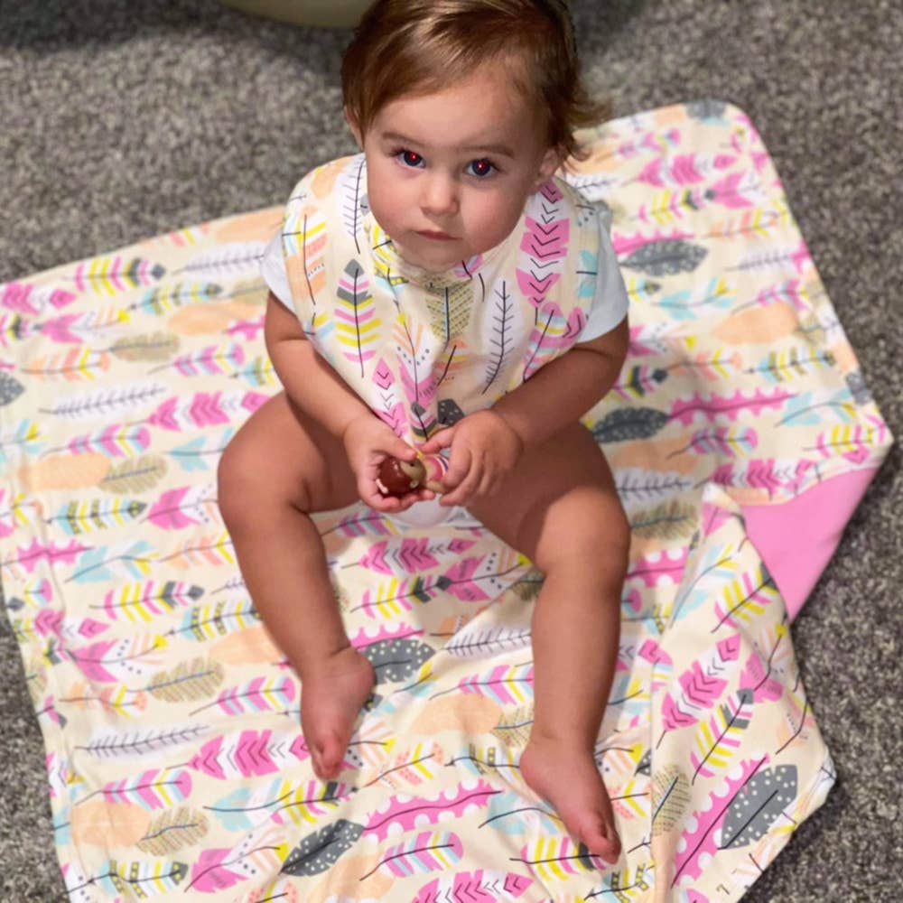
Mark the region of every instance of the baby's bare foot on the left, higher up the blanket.
[[373, 666], [352, 647], [342, 649], [301, 686], [301, 730], [321, 780], [339, 774], [354, 723], [373, 690]]

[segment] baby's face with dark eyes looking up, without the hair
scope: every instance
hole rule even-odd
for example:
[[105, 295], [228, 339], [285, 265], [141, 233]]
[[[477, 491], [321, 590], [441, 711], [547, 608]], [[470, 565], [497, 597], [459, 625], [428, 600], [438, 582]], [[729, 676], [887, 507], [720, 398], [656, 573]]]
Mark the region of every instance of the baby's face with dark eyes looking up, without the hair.
[[505, 70], [398, 98], [364, 137], [368, 199], [410, 264], [442, 271], [498, 245], [560, 163]]

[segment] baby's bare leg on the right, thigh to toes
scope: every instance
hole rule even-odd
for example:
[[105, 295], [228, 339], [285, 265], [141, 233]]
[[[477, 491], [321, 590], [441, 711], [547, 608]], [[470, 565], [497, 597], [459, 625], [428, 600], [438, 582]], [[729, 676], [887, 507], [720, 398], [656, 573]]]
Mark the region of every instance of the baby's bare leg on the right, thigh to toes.
[[620, 842], [593, 751], [618, 655], [629, 527], [611, 472], [580, 424], [530, 450], [469, 506], [545, 573], [533, 616], [535, 717], [520, 760], [568, 831], [608, 861]]

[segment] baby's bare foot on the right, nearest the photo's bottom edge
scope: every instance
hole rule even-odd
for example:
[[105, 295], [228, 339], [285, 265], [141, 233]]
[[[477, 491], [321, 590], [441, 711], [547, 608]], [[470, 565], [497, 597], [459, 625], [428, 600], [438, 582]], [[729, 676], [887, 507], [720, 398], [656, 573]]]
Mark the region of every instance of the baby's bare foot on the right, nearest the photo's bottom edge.
[[520, 757], [526, 783], [552, 804], [574, 840], [607, 862], [620, 856], [608, 791], [588, 749], [531, 736]]

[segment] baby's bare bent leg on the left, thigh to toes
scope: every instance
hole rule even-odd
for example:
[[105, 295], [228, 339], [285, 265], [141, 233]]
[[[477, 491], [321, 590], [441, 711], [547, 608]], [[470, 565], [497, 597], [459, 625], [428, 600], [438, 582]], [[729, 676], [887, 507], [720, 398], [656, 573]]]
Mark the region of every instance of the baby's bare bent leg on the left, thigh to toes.
[[253, 414], [219, 463], [219, 508], [256, 610], [301, 677], [302, 731], [321, 778], [339, 773], [373, 668], [349, 644], [309, 514], [357, 498], [341, 442], [284, 393]]

